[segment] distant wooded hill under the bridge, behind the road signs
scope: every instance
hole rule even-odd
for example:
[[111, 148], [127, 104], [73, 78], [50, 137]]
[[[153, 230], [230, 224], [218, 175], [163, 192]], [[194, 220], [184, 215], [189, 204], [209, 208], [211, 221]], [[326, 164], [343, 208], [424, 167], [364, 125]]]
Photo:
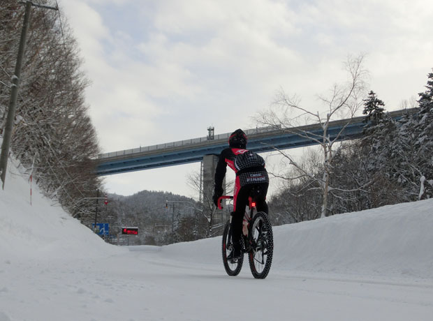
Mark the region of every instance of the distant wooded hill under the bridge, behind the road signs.
[[[205, 222], [195, 211], [198, 203], [190, 197], [163, 191], [140, 191], [129, 196], [109, 194], [108, 200], [107, 207], [100, 212], [101, 220], [110, 223], [110, 234], [115, 237], [113, 242], [164, 245], [203, 238], [198, 235], [200, 229], [194, 225], [196, 221], [197, 224], [202, 221], [204, 225]], [[118, 236], [121, 228], [126, 226], [138, 227], [138, 235]]]

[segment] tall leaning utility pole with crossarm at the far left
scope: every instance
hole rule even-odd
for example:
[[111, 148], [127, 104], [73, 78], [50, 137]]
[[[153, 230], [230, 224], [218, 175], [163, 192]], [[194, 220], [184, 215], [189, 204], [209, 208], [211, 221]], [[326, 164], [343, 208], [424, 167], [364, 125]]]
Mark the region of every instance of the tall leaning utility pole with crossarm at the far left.
[[3, 182], [2, 188], [4, 189], [4, 182], [6, 179], [6, 168], [8, 167], [8, 157], [10, 149], [10, 141], [12, 139], [13, 121], [15, 119], [15, 110], [17, 106], [18, 86], [20, 85], [20, 75], [22, 59], [24, 58], [24, 50], [27, 39], [27, 30], [30, 24], [31, 6], [47, 8], [52, 10], [59, 10], [59, 8], [49, 7], [33, 3], [29, 0], [22, 2], [26, 5], [26, 11], [24, 13], [24, 22], [22, 24], [20, 46], [18, 47], [17, 64], [15, 64], [15, 73], [12, 76], [12, 90], [10, 92], [10, 103], [8, 114], [6, 116], [6, 124], [3, 133], [3, 142], [1, 143], [1, 154], [0, 154], [0, 178]]

